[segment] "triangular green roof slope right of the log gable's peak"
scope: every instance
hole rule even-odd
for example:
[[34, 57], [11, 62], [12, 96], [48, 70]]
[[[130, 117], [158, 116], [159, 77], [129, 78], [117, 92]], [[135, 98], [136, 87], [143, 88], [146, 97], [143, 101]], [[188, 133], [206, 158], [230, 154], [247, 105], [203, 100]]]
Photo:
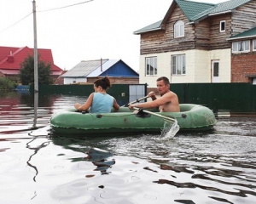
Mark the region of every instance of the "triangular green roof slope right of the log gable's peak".
[[183, 13], [187, 16], [189, 21], [191, 21], [195, 15], [201, 14], [210, 8], [214, 8], [216, 5], [213, 3], [197, 3], [184, 0], [175, 0], [175, 2], [183, 10]]

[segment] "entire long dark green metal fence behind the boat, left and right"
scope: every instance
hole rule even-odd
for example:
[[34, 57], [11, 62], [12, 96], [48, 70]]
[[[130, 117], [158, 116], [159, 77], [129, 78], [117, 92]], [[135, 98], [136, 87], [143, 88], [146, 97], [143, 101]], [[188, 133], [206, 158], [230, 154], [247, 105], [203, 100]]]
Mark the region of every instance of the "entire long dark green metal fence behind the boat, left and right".
[[[134, 84], [132, 84], [134, 85]], [[147, 84], [143, 85], [145, 93]], [[129, 102], [129, 84], [113, 84], [108, 94], [120, 105]], [[213, 112], [256, 113], [256, 85], [250, 83], [172, 83], [170, 88], [177, 94], [180, 104], [205, 105]], [[30, 87], [31, 93], [33, 86]], [[73, 94], [89, 96], [93, 85], [39, 85], [40, 94]]]

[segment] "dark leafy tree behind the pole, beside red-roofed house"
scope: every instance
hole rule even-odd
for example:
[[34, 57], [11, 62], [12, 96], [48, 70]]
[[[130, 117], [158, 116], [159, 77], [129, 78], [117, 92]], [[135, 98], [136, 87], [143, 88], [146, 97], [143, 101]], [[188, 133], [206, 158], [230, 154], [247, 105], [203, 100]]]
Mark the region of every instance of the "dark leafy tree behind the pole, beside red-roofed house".
[[[50, 77], [51, 64], [39, 60], [38, 56], [38, 84], [52, 84]], [[34, 82], [34, 58], [28, 55], [27, 58], [20, 63], [20, 82], [23, 85], [29, 85]]]

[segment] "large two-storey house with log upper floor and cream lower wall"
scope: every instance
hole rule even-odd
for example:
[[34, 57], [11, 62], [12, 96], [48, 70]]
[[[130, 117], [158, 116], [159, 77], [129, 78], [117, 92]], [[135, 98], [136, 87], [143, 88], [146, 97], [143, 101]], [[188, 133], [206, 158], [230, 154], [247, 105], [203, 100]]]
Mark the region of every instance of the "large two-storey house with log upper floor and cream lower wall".
[[140, 83], [255, 82], [256, 0], [173, 0], [163, 20], [141, 36]]

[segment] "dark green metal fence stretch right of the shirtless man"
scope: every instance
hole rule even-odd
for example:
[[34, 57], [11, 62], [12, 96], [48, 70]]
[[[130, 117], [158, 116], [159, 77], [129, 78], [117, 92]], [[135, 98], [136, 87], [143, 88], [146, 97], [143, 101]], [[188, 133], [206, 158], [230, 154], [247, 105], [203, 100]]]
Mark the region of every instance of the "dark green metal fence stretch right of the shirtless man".
[[176, 83], [181, 104], [206, 105], [212, 111], [256, 112], [256, 86], [250, 83]]

